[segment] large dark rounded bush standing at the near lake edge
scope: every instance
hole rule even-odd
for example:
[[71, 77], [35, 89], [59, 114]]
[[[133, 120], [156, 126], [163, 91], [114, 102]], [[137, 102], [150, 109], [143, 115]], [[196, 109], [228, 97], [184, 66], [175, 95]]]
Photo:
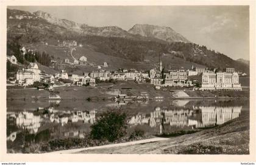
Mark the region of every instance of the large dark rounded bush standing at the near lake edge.
[[113, 142], [126, 135], [126, 113], [112, 110], [102, 113], [91, 126], [91, 138]]

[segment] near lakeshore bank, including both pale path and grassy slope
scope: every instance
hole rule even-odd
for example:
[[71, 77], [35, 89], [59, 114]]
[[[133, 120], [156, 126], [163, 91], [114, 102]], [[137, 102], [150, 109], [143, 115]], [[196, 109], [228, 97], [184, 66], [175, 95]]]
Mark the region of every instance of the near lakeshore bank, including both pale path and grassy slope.
[[[197, 154], [248, 154], [249, 148], [247, 148], [247, 144], [249, 144], [249, 120], [247, 119], [247, 115], [249, 113], [246, 113], [243, 116], [240, 116], [239, 118], [236, 118], [234, 120], [228, 121], [227, 123], [210, 127], [207, 129], [202, 129], [194, 133], [186, 133], [184, 135], [179, 136], [155, 136], [154, 138], [147, 138], [143, 140], [135, 140], [135, 141], [127, 141], [124, 143], [113, 143], [113, 144], [105, 144], [102, 146], [93, 146], [93, 147], [83, 147], [83, 148], [77, 148], [77, 149], [67, 149], [67, 150], [55, 150], [52, 152], [44, 152], [40, 154], [65, 154], [65, 153], [122, 153], [127, 154], [130, 152], [135, 152], [137, 154], [142, 153], [172, 153], [172, 154], [191, 154], [197, 153]], [[240, 125], [236, 125], [240, 124]], [[231, 127], [231, 129], [230, 129]], [[241, 128], [246, 127], [247, 129], [240, 132]], [[229, 128], [227, 130], [227, 128]], [[205, 133], [210, 133], [211, 135], [205, 136]], [[238, 137], [232, 137], [230, 134], [235, 134]], [[229, 140], [229, 138], [234, 138], [235, 140]], [[191, 139], [194, 139], [195, 141], [191, 141]], [[236, 140], [243, 140], [243, 144], [239, 144], [240, 147], [243, 149], [240, 150], [234, 150], [236, 149], [235, 141]], [[216, 143], [216, 147], [211, 152], [211, 144], [212, 141], [218, 142]], [[219, 144], [227, 143], [223, 147], [219, 147]], [[233, 141], [233, 142], [232, 142]], [[231, 144], [230, 144], [231, 143]], [[233, 143], [233, 144], [232, 144]], [[141, 147], [144, 147], [144, 149]], [[154, 147], [154, 151], [151, 150], [152, 146]], [[163, 148], [162, 148], [163, 146]], [[181, 149], [177, 149], [177, 147], [180, 147]], [[191, 150], [192, 147], [192, 150]], [[201, 149], [208, 149], [209, 153], [200, 152]], [[207, 148], [208, 147], [208, 148]], [[227, 151], [226, 151], [226, 148]], [[146, 148], [146, 149], [145, 149]], [[173, 148], [173, 149], [171, 149]], [[150, 151], [149, 151], [150, 150]], [[225, 152], [224, 152], [225, 150]], [[199, 152], [199, 153], [198, 153]], [[232, 152], [232, 153], [230, 153]]]

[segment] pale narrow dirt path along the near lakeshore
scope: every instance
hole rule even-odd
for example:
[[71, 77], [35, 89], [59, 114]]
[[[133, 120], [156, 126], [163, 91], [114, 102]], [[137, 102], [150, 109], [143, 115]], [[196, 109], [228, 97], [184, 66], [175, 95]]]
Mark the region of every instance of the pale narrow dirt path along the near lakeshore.
[[55, 152], [48, 152], [45, 154], [51, 154], [51, 153], [77, 153], [77, 152], [83, 152], [85, 150], [91, 150], [91, 149], [105, 149], [105, 148], [110, 148], [110, 147], [122, 147], [122, 146], [130, 146], [130, 145], [135, 145], [135, 144], [143, 144], [143, 143], [152, 143], [155, 141], [163, 141], [163, 140], [169, 140], [169, 138], [151, 138], [151, 139], [146, 139], [146, 140], [138, 140], [138, 141], [130, 141], [126, 143], [118, 143], [118, 144], [108, 144], [104, 146], [95, 146], [95, 147], [87, 147], [87, 148], [82, 148], [82, 149], [70, 149], [70, 150], [58, 150]]

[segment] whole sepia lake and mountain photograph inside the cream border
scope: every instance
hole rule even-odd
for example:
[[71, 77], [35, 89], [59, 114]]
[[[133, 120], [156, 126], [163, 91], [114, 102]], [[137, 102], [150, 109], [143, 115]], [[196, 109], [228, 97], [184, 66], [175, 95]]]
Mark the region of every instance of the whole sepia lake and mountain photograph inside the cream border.
[[252, 153], [249, 5], [5, 12], [6, 153]]

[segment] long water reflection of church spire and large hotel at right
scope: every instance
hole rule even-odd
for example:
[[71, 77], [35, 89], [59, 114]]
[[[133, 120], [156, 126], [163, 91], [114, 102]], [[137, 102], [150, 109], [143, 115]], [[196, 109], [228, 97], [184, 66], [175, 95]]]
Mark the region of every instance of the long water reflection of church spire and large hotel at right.
[[128, 123], [130, 125], [149, 124], [150, 127], [159, 127], [160, 132], [163, 124], [165, 126], [185, 127], [207, 127], [226, 123], [229, 120], [238, 118], [241, 113], [241, 106], [236, 107], [199, 107], [200, 112], [194, 109], [164, 110], [156, 107], [150, 116], [138, 114], [132, 116]]

